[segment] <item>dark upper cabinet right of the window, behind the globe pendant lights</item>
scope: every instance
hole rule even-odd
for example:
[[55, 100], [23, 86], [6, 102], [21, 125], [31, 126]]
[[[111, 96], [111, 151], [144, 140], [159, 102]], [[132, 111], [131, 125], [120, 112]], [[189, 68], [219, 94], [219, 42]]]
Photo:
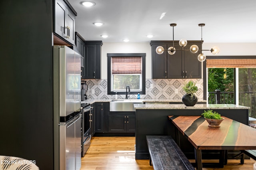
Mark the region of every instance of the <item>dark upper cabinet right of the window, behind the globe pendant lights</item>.
[[180, 47], [178, 41], [174, 41], [176, 52], [170, 55], [167, 50], [162, 54], [156, 53], [156, 47], [162, 46], [168, 49], [173, 46], [172, 41], [151, 41], [152, 53], [152, 78], [153, 79], [201, 79], [202, 63], [198, 61], [197, 53], [190, 52], [191, 45], [198, 45], [202, 49], [200, 41], [188, 41], [186, 47]]

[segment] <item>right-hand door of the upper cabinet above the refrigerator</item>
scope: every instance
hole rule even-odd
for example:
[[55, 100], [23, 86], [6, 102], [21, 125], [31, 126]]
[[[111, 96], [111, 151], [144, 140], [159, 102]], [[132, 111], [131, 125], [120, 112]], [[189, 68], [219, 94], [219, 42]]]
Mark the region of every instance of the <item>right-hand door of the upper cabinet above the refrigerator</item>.
[[67, 40], [75, 44], [75, 16], [68, 9], [66, 9], [66, 23], [68, 27], [66, 29], [68, 31]]

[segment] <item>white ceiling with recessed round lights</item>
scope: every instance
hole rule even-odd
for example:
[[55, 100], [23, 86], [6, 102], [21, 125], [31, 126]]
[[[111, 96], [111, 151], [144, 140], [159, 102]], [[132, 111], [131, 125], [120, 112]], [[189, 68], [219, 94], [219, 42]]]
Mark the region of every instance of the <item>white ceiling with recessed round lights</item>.
[[[85, 40], [150, 42], [150, 40], [201, 40], [205, 43], [256, 43], [256, 0], [68, 0], [76, 10], [75, 31]], [[160, 16], [166, 12], [164, 18]], [[103, 22], [96, 27], [92, 23]], [[100, 35], [107, 34], [108, 38]], [[152, 34], [153, 38], [146, 35]]]

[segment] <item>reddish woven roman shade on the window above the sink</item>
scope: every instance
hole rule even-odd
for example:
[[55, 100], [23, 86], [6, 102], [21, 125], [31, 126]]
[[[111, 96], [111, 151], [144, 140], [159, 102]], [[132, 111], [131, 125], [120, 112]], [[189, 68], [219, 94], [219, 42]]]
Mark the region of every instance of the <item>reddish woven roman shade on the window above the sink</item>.
[[142, 74], [142, 57], [112, 57], [112, 74]]

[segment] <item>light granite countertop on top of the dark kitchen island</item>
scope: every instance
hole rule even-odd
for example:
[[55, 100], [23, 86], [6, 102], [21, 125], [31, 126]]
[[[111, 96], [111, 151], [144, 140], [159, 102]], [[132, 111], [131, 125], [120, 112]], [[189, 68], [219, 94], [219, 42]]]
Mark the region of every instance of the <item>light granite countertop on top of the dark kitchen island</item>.
[[134, 109], [250, 109], [250, 107], [234, 104], [196, 104], [194, 106], [184, 104], [134, 104]]

